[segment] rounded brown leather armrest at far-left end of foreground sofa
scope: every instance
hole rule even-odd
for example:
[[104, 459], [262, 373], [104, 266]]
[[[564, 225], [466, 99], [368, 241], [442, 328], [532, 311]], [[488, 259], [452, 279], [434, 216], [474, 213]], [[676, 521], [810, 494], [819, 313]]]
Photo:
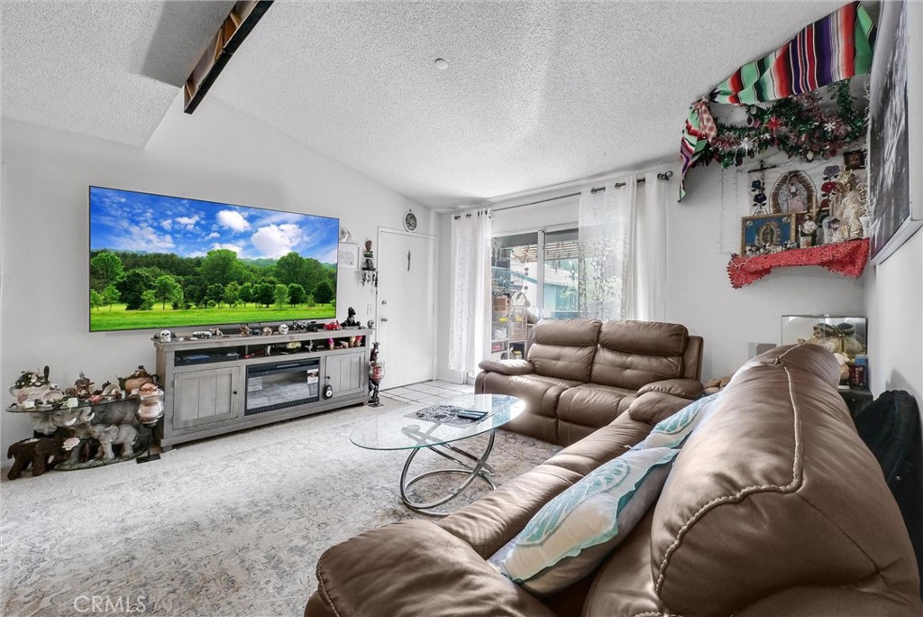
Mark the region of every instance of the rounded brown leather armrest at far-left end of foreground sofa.
[[[460, 604], [461, 602], [461, 604]], [[554, 617], [461, 538], [408, 520], [350, 538], [320, 556], [305, 617]]]

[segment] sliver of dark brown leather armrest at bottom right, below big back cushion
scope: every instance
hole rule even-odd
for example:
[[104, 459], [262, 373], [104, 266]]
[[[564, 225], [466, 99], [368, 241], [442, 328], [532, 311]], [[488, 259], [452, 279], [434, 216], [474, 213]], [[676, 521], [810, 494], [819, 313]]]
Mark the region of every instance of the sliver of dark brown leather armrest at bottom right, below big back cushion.
[[918, 598], [902, 602], [896, 594], [888, 598], [857, 589], [805, 586], [791, 587], [759, 599], [734, 614], [735, 617], [910, 617], [921, 611], [923, 605]]

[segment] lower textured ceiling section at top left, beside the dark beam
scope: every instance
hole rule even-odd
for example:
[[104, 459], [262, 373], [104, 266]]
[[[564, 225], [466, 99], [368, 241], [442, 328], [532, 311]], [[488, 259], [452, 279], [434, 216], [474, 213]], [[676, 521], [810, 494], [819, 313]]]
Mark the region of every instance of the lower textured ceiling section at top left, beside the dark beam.
[[234, 2], [6, 2], [3, 115], [143, 147]]

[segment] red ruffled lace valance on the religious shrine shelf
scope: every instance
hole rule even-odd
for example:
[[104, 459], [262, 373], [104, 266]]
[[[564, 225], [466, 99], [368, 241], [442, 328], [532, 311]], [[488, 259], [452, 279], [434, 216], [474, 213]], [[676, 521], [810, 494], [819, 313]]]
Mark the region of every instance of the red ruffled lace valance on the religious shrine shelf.
[[822, 247], [793, 248], [780, 253], [741, 257], [735, 255], [727, 264], [727, 276], [735, 289], [753, 283], [783, 266], [821, 266], [830, 272], [857, 279], [869, 260], [869, 238], [850, 240]]

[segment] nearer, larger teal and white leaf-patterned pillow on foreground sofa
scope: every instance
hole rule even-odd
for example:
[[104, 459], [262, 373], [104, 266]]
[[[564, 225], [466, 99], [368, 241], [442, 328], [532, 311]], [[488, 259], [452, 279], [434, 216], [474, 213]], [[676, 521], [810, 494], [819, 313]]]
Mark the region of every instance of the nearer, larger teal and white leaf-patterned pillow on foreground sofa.
[[559, 494], [491, 562], [535, 595], [590, 574], [657, 501], [671, 448], [629, 450]]

